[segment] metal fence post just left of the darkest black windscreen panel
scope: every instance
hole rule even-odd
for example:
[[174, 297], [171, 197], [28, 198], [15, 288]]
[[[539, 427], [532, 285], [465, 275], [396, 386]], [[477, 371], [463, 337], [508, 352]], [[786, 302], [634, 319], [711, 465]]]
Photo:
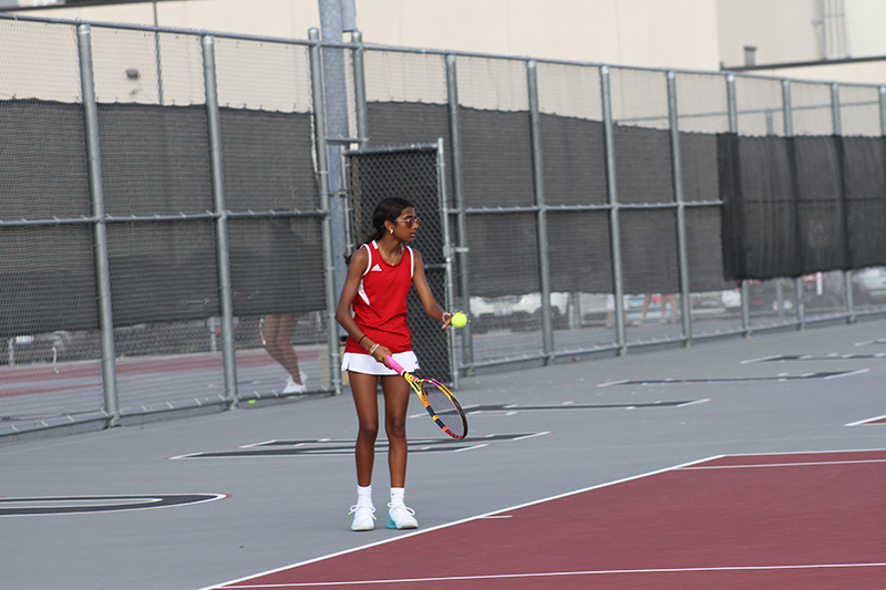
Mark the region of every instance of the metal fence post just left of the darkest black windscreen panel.
[[683, 165], [680, 159], [680, 120], [677, 112], [677, 74], [673, 72], [668, 72], [668, 120], [671, 131], [673, 198], [677, 201], [677, 260], [680, 268], [680, 320], [683, 324], [683, 345], [691, 346], [692, 293], [689, 287], [689, 249], [687, 247]]

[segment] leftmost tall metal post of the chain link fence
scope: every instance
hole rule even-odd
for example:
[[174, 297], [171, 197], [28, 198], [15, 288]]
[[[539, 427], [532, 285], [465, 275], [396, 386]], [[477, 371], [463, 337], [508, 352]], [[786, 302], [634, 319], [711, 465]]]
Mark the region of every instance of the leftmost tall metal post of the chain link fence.
[[107, 426], [120, 426], [117, 373], [114, 364], [114, 318], [111, 306], [111, 263], [107, 257], [107, 227], [102, 185], [102, 151], [99, 145], [99, 107], [95, 104], [95, 80], [92, 69], [92, 28], [79, 24], [76, 43], [80, 56], [80, 87], [83, 97], [83, 125], [86, 138], [86, 161], [90, 178], [90, 203], [95, 260], [95, 294], [99, 303], [99, 330], [102, 351], [102, 385]]

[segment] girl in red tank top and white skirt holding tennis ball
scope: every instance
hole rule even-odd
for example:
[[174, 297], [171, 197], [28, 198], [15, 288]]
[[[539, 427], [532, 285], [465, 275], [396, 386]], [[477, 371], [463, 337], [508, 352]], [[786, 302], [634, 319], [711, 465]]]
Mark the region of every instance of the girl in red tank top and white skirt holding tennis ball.
[[[402, 198], [387, 198], [372, 214], [374, 235], [348, 261], [348, 278], [336, 309], [336, 320], [348, 332], [341, 370], [348, 377], [357, 406], [357, 504], [351, 507], [352, 530], [372, 530], [372, 466], [379, 432], [378, 383], [384, 394], [384, 429], [390, 449], [391, 501], [388, 528], [416, 528], [415, 511], [404, 503], [406, 479], [406, 410], [410, 386], [388, 365], [390, 354], [406, 371], [419, 369], [406, 325], [406, 294], [412, 286], [424, 312], [450, 325], [452, 313], [434, 300], [418, 251], [406, 244], [415, 238], [419, 218], [413, 205]], [[351, 315], [353, 309], [353, 315]]]

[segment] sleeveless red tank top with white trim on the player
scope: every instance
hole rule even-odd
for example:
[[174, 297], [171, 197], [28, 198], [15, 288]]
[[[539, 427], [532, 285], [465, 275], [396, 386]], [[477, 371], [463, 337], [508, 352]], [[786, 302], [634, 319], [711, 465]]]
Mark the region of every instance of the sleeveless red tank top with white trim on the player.
[[[391, 349], [391, 352], [412, 350], [406, 325], [406, 296], [412, 287], [415, 268], [412, 248], [401, 246], [403, 256], [396, 266], [384, 261], [374, 241], [362, 246], [369, 253], [369, 265], [351, 304], [353, 319], [370, 340]], [[348, 337], [344, 352], [368, 354], [365, 349]]]

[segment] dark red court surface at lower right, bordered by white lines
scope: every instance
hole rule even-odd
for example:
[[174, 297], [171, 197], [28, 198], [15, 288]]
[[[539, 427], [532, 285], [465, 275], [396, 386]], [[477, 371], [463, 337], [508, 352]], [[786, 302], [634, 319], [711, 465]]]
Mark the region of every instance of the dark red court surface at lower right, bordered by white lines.
[[721, 456], [212, 588], [883, 589], [884, 489], [886, 451]]

